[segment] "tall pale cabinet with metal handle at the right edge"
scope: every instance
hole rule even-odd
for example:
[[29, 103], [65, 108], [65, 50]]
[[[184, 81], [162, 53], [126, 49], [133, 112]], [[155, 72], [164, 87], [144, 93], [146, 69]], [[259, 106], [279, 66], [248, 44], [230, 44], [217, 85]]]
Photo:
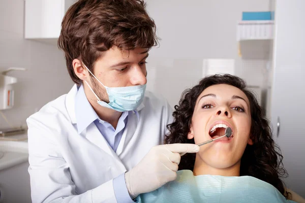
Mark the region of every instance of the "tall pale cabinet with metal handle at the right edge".
[[[276, 1], [271, 120], [284, 156], [287, 187], [305, 197], [304, 0]], [[278, 126], [279, 125], [279, 126]]]

